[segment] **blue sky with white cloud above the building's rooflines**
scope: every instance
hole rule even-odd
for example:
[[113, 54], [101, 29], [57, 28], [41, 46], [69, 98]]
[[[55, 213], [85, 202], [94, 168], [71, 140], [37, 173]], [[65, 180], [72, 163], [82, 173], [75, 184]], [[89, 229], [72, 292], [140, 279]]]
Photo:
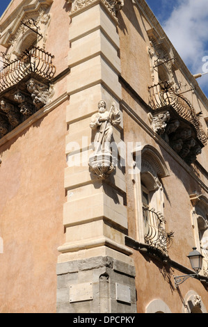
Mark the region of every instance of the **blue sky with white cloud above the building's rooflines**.
[[[208, 72], [208, 0], [146, 2], [190, 72]], [[9, 3], [10, 0], [0, 0], [0, 16]], [[208, 97], [208, 74], [197, 81]]]

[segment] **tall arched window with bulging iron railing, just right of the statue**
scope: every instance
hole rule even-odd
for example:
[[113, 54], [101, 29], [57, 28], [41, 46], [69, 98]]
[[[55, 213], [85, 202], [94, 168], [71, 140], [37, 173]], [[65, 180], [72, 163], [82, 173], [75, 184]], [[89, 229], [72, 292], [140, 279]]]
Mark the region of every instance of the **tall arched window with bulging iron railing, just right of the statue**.
[[[137, 153], [136, 153], [137, 152]], [[167, 253], [168, 233], [163, 217], [163, 185], [161, 179], [168, 176], [168, 169], [161, 154], [151, 145], [134, 151], [134, 196], [136, 207], [136, 237], [164, 254]]]

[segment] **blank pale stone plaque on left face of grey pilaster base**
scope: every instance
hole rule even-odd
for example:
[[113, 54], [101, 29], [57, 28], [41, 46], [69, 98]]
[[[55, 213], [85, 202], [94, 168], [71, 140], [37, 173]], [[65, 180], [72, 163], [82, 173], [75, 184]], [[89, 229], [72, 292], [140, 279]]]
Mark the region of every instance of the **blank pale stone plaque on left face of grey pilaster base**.
[[70, 285], [70, 302], [93, 300], [93, 282]]

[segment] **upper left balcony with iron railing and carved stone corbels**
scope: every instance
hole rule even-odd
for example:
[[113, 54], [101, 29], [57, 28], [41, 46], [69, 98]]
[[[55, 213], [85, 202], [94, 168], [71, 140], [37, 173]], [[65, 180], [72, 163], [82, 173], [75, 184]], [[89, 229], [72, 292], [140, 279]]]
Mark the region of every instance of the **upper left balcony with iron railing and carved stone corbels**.
[[[5, 58], [5, 56], [3, 56]], [[56, 72], [54, 56], [39, 47], [26, 49], [0, 72], [0, 138], [49, 103]]]

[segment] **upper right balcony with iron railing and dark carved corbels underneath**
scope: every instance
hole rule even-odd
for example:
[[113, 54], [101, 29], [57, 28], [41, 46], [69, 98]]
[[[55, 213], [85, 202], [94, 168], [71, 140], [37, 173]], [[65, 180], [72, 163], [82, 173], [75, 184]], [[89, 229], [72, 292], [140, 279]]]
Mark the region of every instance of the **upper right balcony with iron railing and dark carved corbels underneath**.
[[200, 117], [186, 97], [175, 93], [168, 82], [149, 88], [152, 129], [189, 165], [207, 144]]

